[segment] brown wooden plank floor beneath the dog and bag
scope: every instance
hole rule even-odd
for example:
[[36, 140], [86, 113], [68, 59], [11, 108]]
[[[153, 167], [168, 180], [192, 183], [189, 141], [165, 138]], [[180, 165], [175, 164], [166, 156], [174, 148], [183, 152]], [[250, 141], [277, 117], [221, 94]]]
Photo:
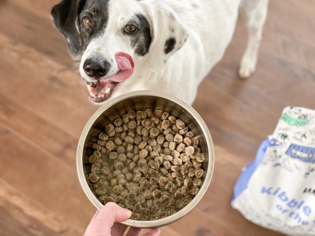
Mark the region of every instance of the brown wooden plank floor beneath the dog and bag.
[[[59, 0], [0, 1], [0, 235], [83, 235], [95, 207], [76, 172], [78, 138], [98, 109], [53, 26]], [[161, 235], [281, 235], [230, 206], [233, 185], [285, 106], [315, 109], [315, 2], [271, 0], [258, 65], [237, 70], [247, 34], [238, 21], [224, 58], [193, 107], [209, 127], [215, 172], [201, 202]]]

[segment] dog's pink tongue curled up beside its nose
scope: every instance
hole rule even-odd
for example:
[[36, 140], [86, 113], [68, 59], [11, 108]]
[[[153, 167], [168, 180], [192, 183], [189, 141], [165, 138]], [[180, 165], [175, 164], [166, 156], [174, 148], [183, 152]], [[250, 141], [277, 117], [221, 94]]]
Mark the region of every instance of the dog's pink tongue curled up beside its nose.
[[134, 72], [134, 61], [128, 53], [118, 52], [115, 55], [115, 59], [120, 69], [116, 75], [109, 78], [113, 82], [125, 81]]

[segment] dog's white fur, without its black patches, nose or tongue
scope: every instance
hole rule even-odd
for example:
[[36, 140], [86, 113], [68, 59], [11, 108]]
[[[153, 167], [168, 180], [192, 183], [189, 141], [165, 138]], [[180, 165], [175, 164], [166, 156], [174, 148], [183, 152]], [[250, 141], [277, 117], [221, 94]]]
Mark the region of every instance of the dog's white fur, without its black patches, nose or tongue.
[[[268, 0], [109, 1], [106, 30], [85, 50], [80, 64], [81, 76], [92, 81], [83, 70], [83, 63], [91, 54], [113, 59], [115, 53], [123, 51], [133, 57], [135, 70], [126, 81], [115, 87], [111, 98], [136, 90], [155, 90], [192, 104], [199, 83], [222, 58], [231, 41], [239, 8], [249, 31], [239, 75], [246, 78], [254, 72], [267, 4]], [[143, 57], [134, 53], [128, 37], [117, 33], [125, 20], [137, 12], [145, 15], [151, 26], [151, 46]], [[171, 53], [165, 54], [163, 47], [172, 27], [176, 27], [173, 36], [177, 43]], [[106, 77], [118, 70], [115, 60], [112, 60]]]

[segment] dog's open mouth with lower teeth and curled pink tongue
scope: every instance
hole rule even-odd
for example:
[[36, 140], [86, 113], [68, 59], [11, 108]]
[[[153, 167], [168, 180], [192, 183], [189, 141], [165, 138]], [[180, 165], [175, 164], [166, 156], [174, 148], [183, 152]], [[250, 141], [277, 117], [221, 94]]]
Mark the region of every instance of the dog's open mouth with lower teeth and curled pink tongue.
[[115, 55], [115, 59], [119, 70], [114, 76], [96, 82], [85, 81], [89, 89], [89, 98], [91, 101], [100, 103], [107, 100], [111, 96], [115, 86], [127, 80], [132, 75], [135, 64], [128, 53], [118, 52]]

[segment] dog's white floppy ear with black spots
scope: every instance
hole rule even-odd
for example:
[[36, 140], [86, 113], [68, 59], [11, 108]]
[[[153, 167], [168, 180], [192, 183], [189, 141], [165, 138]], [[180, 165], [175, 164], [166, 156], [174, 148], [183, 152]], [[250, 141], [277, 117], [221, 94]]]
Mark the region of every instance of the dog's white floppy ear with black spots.
[[166, 61], [179, 50], [188, 37], [188, 31], [174, 11], [166, 5], [155, 5], [149, 10], [152, 42], [149, 49], [149, 66], [160, 71]]

